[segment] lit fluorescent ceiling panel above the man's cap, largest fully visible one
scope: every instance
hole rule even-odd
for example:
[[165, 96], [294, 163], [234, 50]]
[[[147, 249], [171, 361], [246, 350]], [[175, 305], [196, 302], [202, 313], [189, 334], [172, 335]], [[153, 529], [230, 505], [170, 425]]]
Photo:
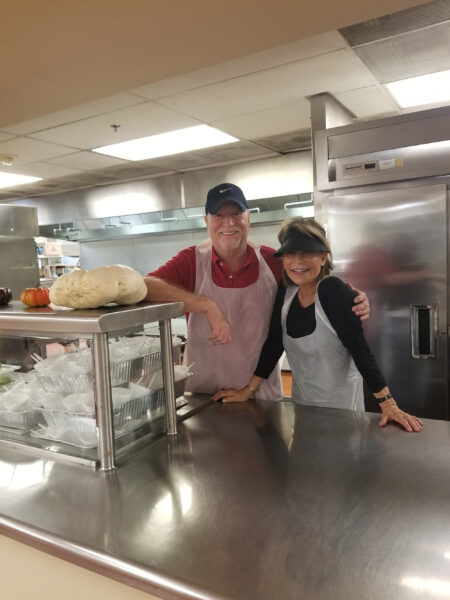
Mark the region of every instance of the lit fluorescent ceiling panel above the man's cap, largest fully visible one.
[[209, 125], [196, 125], [195, 127], [150, 135], [137, 140], [93, 148], [93, 151], [125, 160], [146, 160], [157, 156], [169, 156], [170, 154], [221, 146], [238, 141], [237, 138]]

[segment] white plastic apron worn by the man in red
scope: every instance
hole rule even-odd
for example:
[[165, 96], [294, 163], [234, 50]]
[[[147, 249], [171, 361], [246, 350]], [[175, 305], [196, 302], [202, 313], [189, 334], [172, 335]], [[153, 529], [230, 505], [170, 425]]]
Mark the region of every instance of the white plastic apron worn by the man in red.
[[[251, 245], [259, 261], [259, 276], [246, 288], [222, 288], [212, 280], [212, 243], [205, 240], [195, 249], [195, 293], [211, 298], [231, 325], [232, 342], [214, 345], [211, 328], [203, 313], [190, 313], [187, 326], [185, 364], [195, 362], [187, 391], [214, 394], [222, 389], [245, 387], [258, 364], [266, 341], [277, 292], [277, 282], [259, 246]], [[260, 400], [283, 397], [280, 367], [273, 370], [255, 394]]]

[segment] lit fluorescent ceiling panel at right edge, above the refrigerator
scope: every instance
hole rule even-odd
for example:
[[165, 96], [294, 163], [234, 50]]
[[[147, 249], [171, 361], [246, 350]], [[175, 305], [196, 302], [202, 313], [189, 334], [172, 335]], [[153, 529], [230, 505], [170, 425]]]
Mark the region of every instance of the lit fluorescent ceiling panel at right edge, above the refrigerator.
[[450, 101], [450, 70], [387, 83], [401, 108]]

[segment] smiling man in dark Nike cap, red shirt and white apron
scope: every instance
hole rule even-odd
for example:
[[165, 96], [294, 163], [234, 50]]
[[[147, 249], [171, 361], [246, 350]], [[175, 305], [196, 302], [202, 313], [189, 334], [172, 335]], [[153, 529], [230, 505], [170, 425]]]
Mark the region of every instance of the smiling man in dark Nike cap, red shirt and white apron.
[[[274, 250], [247, 240], [250, 213], [242, 190], [222, 183], [205, 204], [209, 238], [179, 252], [146, 277], [146, 300], [181, 301], [189, 313], [186, 364], [195, 362], [187, 390], [214, 394], [244, 387], [267, 336], [281, 278]], [[365, 295], [355, 298], [365, 318]], [[279, 370], [258, 389], [259, 399], [283, 396]]]

